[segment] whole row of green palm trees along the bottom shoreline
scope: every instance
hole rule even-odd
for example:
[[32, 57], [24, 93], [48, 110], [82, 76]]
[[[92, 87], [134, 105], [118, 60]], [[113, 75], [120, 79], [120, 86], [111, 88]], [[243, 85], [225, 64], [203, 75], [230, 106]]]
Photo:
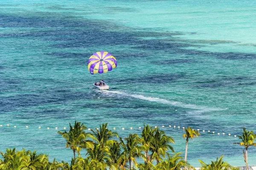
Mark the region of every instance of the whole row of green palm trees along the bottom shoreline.
[[[158, 127], [144, 125], [140, 135], [133, 133], [125, 138], [118, 136], [117, 132], [108, 130], [108, 123], [100, 125], [95, 130], [86, 132], [87, 127], [81, 122], [70, 124], [69, 131], [58, 131], [65, 140], [66, 147], [73, 151], [70, 154], [71, 162], [49, 161], [48, 155], [38, 154], [35, 151], [6, 149], [0, 152], [0, 170], [194, 170], [187, 159], [189, 138], [200, 136], [191, 127], [185, 129], [183, 138], [186, 140], [185, 159], [181, 153], [175, 153], [172, 144], [175, 140]], [[256, 146], [255, 134], [243, 128], [239, 136], [239, 144], [244, 147], [243, 155], [248, 170], [247, 150]], [[81, 156], [80, 151], [86, 150]], [[172, 154], [169, 154], [171, 151]], [[137, 160], [143, 160], [138, 163]], [[226, 161], [223, 155], [210, 163], [199, 160], [200, 170], [239, 170]]]

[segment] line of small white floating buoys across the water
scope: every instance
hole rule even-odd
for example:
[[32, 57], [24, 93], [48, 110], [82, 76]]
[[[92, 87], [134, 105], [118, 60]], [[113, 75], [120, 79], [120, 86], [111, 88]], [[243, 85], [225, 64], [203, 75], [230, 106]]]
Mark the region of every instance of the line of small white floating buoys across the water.
[[[9, 124], [7, 124], [6, 125], [8, 128], [10, 128], [10, 125]], [[3, 125], [0, 125], [0, 127], [2, 127], [3, 128]], [[13, 126], [14, 128], [19, 128], [19, 127], [17, 127], [17, 126]], [[21, 127], [21, 126], [20, 126]], [[29, 129], [29, 126], [25, 126], [26, 127], [26, 129]], [[166, 128], [166, 129], [170, 129], [170, 128], [172, 128], [172, 126], [171, 125], [169, 125], [169, 126], [167, 126], [167, 127], [165, 127], [164, 125], [163, 126], [161, 126], [162, 128]], [[45, 127], [47, 130], [49, 130], [50, 129], [50, 127]], [[158, 126], [155, 126], [155, 128], [158, 128]], [[43, 128], [41, 128], [41, 126], [39, 126], [38, 127], [38, 129], [43, 129]], [[54, 129], [54, 128], [53, 128]], [[63, 127], [63, 130], [66, 130], [67, 128], [66, 127]], [[99, 128], [95, 128], [95, 129], [97, 129], [97, 130], [99, 130]], [[107, 129], [107, 127], [106, 127], [106, 129]], [[118, 129], [122, 129], [122, 130], [125, 130], [125, 127], [122, 127], [122, 128], [118, 128]], [[116, 127], [113, 127], [113, 130], [118, 130]], [[138, 127], [138, 129], [140, 130], [140, 129], [142, 129], [142, 127]], [[173, 129], [176, 129], [176, 126], [173, 126]], [[180, 129], [180, 126], [178, 126], [178, 129]], [[58, 130], [58, 127], [55, 127], [55, 130]], [[88, 128], [87, 130], [91, 130], [90, 128]], [[130, 127], [130, 130], [133, 130], [133, 127]], [[182, 127], [182, 130], [185, 130], [185, 127]], [[192, 129], [192, 130], [194, 130], [194, 129]], [[198, 132], [200, 132], [200, 129], [197, 129], [197, 131]], [[205, 133], [205, 132], [208, 132], [208, 133], [210, 133], [211, 131], [210, 130], [202, 130], [202, 132], [203, 132], [203, 134], [207, 134], [207, 133]], [[201, 133], [202, 134], [202, 133]], [[217, 133], [217, 135], [220, 135], [221, 133]], [[222, 133], [222, 135], [223, 136], [225, 136], [225, 134], [226, 133]], [[212, 131], [212, 135], [215, 135], [215, 132], [214, 131]], [[231, 136], [231, 133], [228, 133], [228, 136]], [[234, 137], [236, 137], [236, 135], [234, 135]]]

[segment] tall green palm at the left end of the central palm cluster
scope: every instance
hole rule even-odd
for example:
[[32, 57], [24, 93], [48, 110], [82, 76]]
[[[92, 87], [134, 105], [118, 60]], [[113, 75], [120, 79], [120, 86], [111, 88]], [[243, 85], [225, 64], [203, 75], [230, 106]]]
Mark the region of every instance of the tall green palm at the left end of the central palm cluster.
[[66, 130], [64, 132], [58, 131], [58, 133], [66, 139], [66, 147], [70, 147], [70, 149], [73, 150], [74, 160], [76, 159], [76, 152], [78, 156], [80, 156], [81, 148], [93, 146], [93, 142], [87, 139], [88, 137], [93, 138], [93, 136], [90, 133], [86, 133], [86, 129], [87, 127], [84, 126], [83, 123], [81, 124], [81, 122], [75, 121], [74, 127], [70, 124], [70, 130], [68, 132]]

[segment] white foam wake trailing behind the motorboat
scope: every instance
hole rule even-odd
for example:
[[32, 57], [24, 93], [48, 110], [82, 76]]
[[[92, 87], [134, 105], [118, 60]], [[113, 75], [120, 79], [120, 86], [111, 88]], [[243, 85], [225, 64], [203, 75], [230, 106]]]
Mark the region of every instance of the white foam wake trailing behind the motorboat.
[[169, 101], [169, 100], [166, 100], [166, 99], [160, 99], [158, 97], [143, 96], [141, 94], [127, 94], [124, 91], [104, 91], [103, 93], [119, 94], [119, 95], [122, 95], [122, 96], [131, 96], [131, 97], [134, 97], [134, 98], [137, 98], [137, 99], [143, 99], [143, 100], [150, 101], [150, 102], [157, 102], [157, 103], [161, 103], [161, 104], [168, 104], [168, 105], [173, 105], [173, 106], [177, 106], [177, 107], [180, 107], [180, 108], [189, 108], [189, 109], [199, 110], [199, 111], [203, 111], [203, 112], [227, 110], [227, 108], [225, 108], [225, 109], [221, 109], [221, 108], [208, 108], [208, 107], [204, 107], [204, 106], [185, 104], [185, 103], [182, 103], [182, 102]]

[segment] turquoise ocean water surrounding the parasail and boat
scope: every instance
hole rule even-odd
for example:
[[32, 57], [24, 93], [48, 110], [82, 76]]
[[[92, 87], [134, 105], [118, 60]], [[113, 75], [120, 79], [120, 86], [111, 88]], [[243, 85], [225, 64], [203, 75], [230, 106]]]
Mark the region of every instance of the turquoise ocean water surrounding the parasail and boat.
[[[241, 127], [256, 130], [255, 6], [253, 0], [0, 0], [0, 150], [24, 147], [70, 161], [55, 127], [108, 122], [124, 137], [146, 123], [165, 130], [183, 153], [182, 127], [200, 129], [189, 141], [195, 167], [222, 154], [243, 166], [242, 147], [233, 142]], [[113, 54], [117, 68], [90, 75], [87, 59], [96, 51]], [[109, 91], [92, 87], [101, 78]], [[256, 165], [256, 149], [248, 154]]]

